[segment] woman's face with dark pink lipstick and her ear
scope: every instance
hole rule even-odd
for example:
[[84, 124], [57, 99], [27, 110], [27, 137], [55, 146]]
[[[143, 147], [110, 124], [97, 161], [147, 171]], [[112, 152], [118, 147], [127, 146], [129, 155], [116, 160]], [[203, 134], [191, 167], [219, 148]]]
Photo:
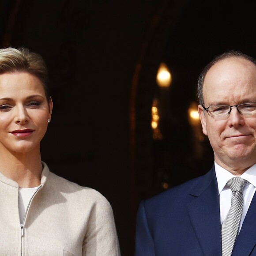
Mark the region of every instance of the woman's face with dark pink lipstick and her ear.
[[39, 150], [52, 109], [36, 76], [26, 72], [0, 75], [0, 152]]

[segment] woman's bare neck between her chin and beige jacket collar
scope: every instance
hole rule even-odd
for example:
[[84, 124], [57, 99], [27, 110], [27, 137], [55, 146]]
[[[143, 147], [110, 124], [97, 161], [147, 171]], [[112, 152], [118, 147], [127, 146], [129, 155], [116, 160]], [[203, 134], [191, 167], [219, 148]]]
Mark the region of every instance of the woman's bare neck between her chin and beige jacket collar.
[[41, 183], [40, 150], [26, 153], [0, 154], [0, 172], [16, 181], [20, 188], [33, 188]]

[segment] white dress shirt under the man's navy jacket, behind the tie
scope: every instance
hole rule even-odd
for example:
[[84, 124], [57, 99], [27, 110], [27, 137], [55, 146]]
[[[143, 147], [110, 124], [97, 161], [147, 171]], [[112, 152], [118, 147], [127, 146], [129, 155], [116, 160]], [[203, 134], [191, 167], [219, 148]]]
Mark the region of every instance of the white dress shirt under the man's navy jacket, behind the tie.
[[[220, 223], [222, 225], [223, 220], [226, 218], [228, 211], [231, 206], [231, 197], [232, 192], [231, 188], [229, 188], [226, 183], [233, 177], [235, 177], [232, 173], [222, 168], [215, 162], [215, 172], [218, 182], [218, 193], [219, 193], [219, 204], [220, 204]], [[250, 203], [252, 202], [252, 197], [254, 196], [256, 190], [256, 164], [250, 167], [245, 173], [243, 173], [241, 178], [249, 181], [248, 184], [245, 185], [243, 197], [244, 197], [244, 208], [241, 217], [241, 222], [239, 226], [238, 232], [241, 230], [241, 226], [245, 220], [245, 215], [248, 211]]]

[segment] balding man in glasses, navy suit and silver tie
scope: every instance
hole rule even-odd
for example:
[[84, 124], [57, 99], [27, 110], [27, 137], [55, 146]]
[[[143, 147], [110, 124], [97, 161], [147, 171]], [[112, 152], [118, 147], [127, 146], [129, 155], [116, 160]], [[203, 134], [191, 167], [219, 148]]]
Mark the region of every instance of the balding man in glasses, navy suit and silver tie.
[[198, 96], [214, 166], [141, 202], [136, 256], [256, 255], [256, 61], [234, 51], [215, 57]]

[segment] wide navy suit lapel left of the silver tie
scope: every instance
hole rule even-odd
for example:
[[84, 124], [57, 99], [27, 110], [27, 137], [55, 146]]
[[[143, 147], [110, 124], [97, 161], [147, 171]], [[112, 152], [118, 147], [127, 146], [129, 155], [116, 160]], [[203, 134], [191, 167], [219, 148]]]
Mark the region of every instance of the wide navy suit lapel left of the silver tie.
[[221, 226], [218, 185], [212, 168], [191, 191], [195, 199], [187, 204], [196, 237], [206, 256], [221, 256]]

